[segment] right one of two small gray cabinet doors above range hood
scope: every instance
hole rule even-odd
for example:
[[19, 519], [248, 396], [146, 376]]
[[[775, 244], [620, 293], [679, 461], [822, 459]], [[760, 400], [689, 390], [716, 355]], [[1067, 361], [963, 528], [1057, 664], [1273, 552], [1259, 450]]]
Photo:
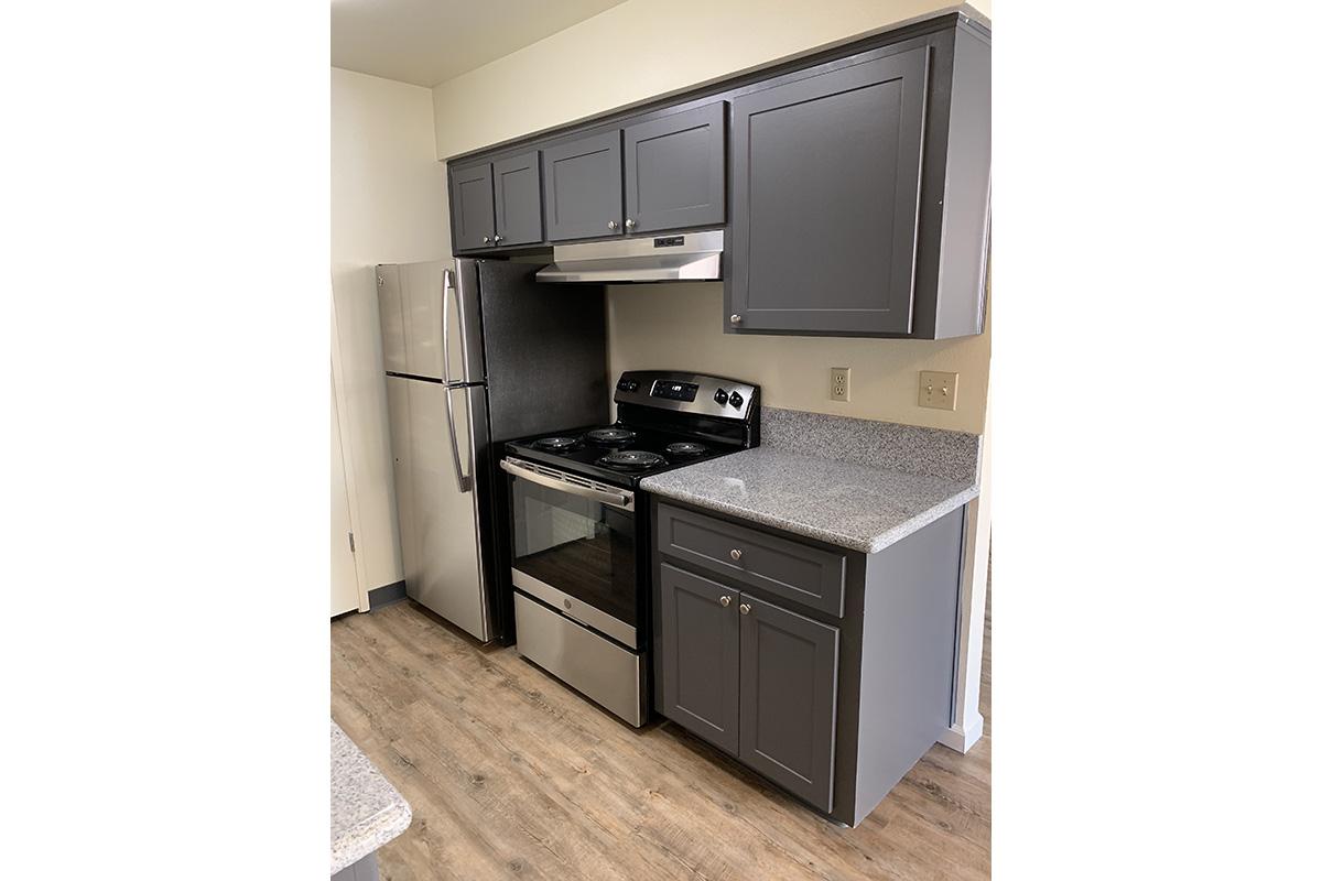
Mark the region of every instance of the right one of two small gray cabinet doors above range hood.
[[624, 217], [631, 232], [726, 222], [726, 102], [624, 129]]

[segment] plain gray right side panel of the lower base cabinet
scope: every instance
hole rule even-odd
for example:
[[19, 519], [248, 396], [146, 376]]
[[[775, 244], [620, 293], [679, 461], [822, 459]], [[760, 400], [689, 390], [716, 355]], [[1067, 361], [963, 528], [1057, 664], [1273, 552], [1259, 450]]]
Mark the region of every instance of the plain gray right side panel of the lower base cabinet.
[[857, 824], [951, 721], [964, 509], [867, 560]]

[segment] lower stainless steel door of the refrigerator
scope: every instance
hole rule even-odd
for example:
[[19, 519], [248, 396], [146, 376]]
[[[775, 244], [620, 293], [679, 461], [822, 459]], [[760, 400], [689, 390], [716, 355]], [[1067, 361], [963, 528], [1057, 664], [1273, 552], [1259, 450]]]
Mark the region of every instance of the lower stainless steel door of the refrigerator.
[[477, 530], [479, 494], [456, 489], [455, 460], [447, 442], [447, 405], [452, 404], [460, 460], [472, 469], [473, 428], [485, 421], [484, 413], [473, 412], [473, 402], [485, 399], [484, 390], [447, 388], [418, 379], [398, 382], [407, 383], [412, 495], [414, 559], [408, 559], [406, 546], [405, 586], [415, 601], [486, 642], [490, 622]]

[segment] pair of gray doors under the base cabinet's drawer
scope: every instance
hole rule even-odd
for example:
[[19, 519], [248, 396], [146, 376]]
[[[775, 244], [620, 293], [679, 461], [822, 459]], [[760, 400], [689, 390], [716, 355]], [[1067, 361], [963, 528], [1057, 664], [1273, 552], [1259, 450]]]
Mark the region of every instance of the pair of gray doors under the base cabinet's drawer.
[[669, 564], [662, 712], [832, 810], [839, 629]]

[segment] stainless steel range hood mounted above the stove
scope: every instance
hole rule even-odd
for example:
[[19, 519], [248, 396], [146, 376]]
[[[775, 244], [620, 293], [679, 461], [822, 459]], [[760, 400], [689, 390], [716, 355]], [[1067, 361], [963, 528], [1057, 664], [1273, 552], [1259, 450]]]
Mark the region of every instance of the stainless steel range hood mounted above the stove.
[[724, 230], [635, 235], [555, 246], [538, 281], [714, 281], [720, 279]]

